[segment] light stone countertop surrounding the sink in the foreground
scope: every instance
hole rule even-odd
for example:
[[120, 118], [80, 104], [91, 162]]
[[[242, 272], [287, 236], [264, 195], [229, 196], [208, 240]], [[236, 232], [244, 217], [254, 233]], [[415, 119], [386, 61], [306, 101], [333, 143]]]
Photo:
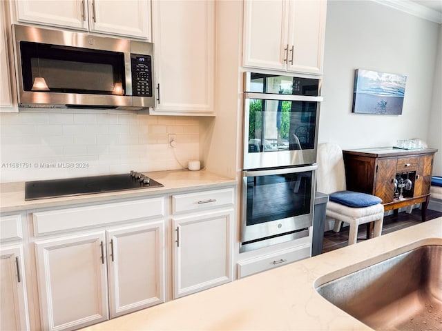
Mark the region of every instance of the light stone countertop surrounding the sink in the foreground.
[[320, 297], [315, 284], [425, 244], [442, 245], [442, 217], [83, 330], [372, 330]]

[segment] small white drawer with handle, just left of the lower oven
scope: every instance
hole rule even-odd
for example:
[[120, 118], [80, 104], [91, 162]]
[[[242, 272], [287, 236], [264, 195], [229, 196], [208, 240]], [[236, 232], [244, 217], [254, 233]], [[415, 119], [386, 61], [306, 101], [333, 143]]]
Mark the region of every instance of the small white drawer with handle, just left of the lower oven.
[[224, 190], [202, 191], [172, 196], [172, 212], [188, 212], [192, 210], [204, 210], [221, 205], [233, 205], [233, 188]]

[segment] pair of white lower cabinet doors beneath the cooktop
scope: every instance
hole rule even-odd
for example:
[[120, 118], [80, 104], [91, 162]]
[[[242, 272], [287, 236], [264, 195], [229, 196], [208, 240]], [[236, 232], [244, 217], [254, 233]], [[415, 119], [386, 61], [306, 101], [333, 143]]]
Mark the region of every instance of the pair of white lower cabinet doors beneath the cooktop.
[[163, 226], [36, 241], [43, 329], [74, 330], [163, 302]]

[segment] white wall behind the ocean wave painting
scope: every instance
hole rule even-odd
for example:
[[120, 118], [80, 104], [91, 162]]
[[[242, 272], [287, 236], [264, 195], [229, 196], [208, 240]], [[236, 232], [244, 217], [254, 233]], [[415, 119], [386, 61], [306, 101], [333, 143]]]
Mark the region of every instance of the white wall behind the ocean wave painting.
[[[432, 108], [438, 34], [439, 24], [380, 3], [330, 0], [318, 141], [342, 148], [393, 146], [415, 137], [434, 143], [428, 126], [436, 113], [440, 141], [440, 99]], [[352, 113], [357, 68], [407, 76], [401, 115]], [[442, 152], [441, 143], [434, 147]]]

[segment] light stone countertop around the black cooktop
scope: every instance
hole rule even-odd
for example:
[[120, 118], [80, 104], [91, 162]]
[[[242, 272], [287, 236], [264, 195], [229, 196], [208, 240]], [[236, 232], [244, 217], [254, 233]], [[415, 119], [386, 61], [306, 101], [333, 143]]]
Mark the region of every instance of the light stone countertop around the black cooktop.
[[72, 197], [60, 197], [25, 201], [25, 183], [0, 184], [0, 212], [15, 212], [37, 208], [58, 207], [77, 203], [103, 202], [113, 199], [137, 199], [153, 195], [186, 192], [190, 190], [205, 190], [236, 185], [235, 179], [222, 177], [218, 174], [201, 171], [171, 170], [158, 172], [143, 172], [148, 177], [159, 181], [162, 188], [146, 188], [142, 190], [126, 190], [96, 194], [81, 194]]

